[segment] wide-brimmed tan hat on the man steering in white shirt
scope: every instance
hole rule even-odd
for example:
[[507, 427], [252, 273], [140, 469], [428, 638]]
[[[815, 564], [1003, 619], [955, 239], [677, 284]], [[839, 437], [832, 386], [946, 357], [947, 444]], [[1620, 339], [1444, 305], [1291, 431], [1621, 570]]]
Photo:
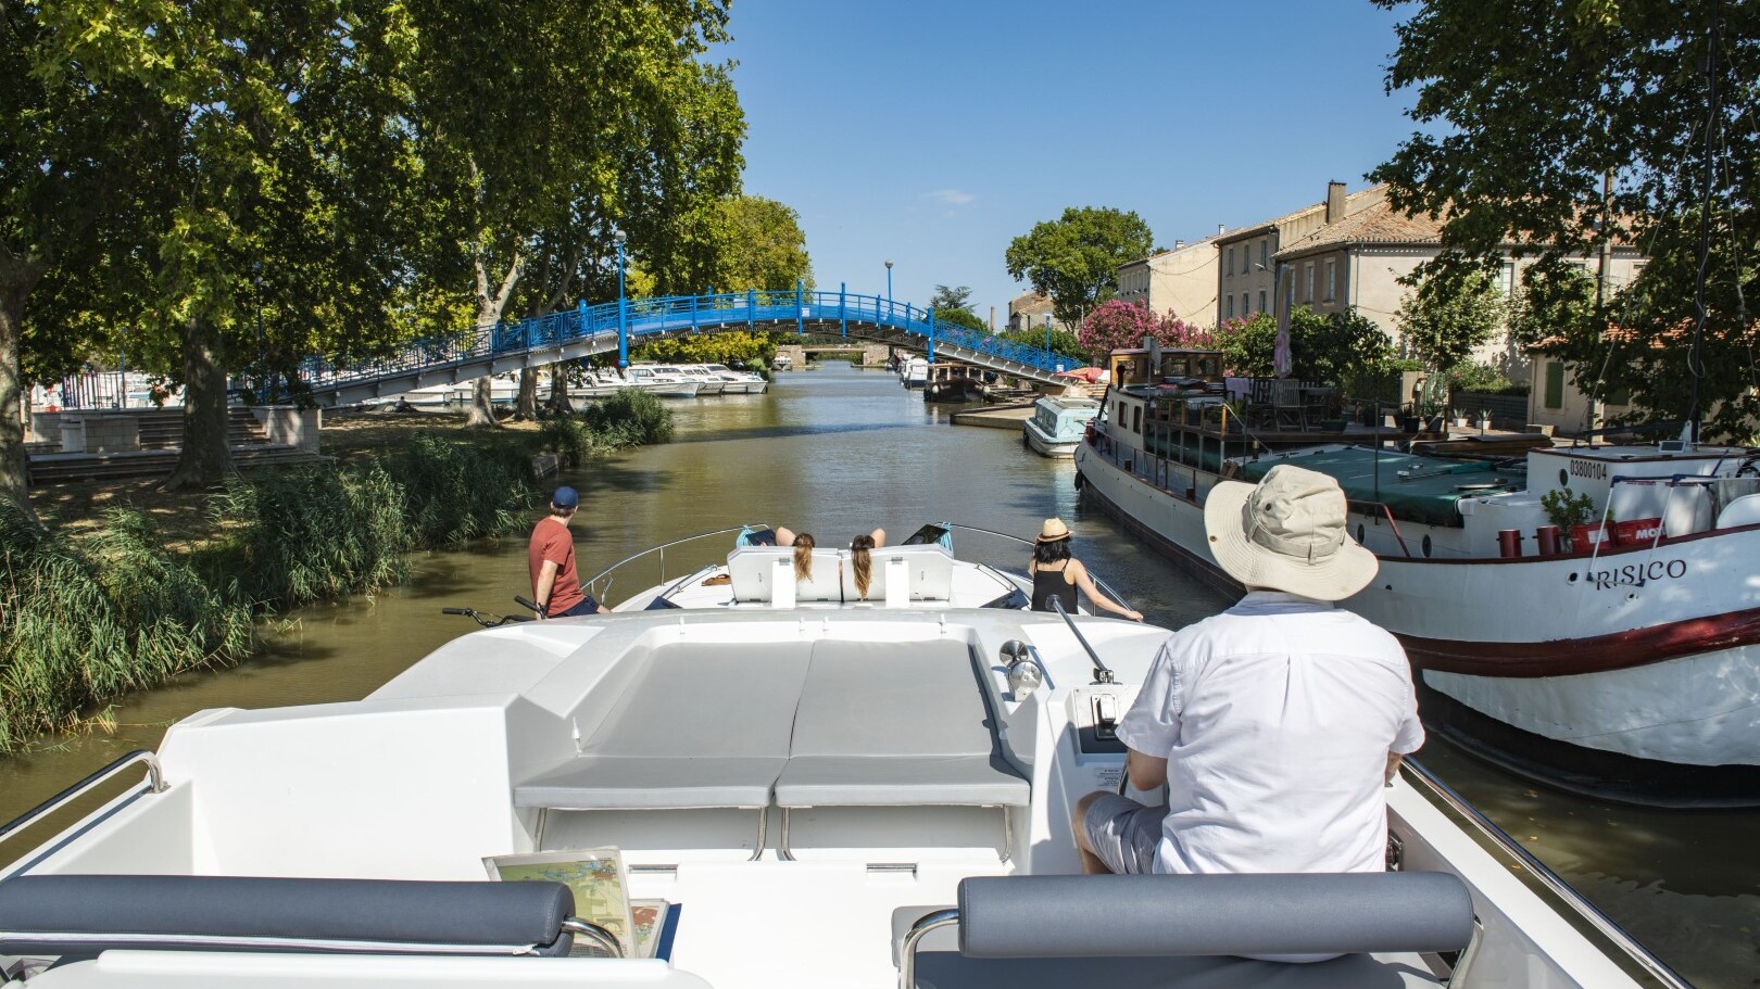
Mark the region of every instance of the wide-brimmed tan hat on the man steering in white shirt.
[[1258, 484], [1223, 480], [1204, 502], [1211, 554], [1230, 577], [1315, 600], [1345, 600], [1375, 579], [1375, 554], [1350, 538], [1338, 480], [1280, 463]]

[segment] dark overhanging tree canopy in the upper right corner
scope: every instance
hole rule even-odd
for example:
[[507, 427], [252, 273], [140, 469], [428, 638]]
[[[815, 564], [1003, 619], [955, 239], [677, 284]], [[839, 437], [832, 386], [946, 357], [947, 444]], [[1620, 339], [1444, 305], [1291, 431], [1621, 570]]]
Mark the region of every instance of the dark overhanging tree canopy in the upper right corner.
[[[1593, 257], [1603, 239], [1637, 248], [1649, 257], [1642, 273], [1614, 285], [1598, 310], [1579, 306], [1545, 334], [1547, 347], [1579, 380], [1605, 366], [1609, 384], [1651, 415], [1684, 417], [1697, 378], [1711, 435], [1751, 435], [1760, 5], [1375, 2], [1410, 11], [1387, 88], [1417, 92], [1420, 130], [1371, 178], [1392, 187], [1396, 206], [1443, 218], [1447, 250], [1429, 267], [1487, 267], [1514, 245], [1540, 257], [1524, 289], [1547, 306], [1573, 290], [1565, 259]], [[1702, 220], [1711, 250], [1695, 359]]]

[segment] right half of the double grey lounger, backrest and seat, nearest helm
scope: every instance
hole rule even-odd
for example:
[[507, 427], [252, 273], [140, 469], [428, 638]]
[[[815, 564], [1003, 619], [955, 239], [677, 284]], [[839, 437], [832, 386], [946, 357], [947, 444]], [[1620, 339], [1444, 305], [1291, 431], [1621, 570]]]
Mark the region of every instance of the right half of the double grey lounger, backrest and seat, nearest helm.
[[813, 648], [776, 804], [1024, 806], [964, 642]]

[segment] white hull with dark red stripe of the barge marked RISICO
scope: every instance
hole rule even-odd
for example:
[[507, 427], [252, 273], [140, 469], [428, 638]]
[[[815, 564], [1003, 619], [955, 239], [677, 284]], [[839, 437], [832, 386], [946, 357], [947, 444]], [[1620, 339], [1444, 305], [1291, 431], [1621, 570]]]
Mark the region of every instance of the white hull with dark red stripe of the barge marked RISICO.
[[[1107, 512], [1234, 586], [1204, 533], [1213, 475], [1176, 468], [1174, 489], [1158, 487], [1089, 445], [1077, 465]], [[1424, 526], [1403, 528], [1415, 544]], [[1382, 554], [1341, 605], [1399, 635], [1429, 686], [1507, 725], [1654, 762], [1760, 766], [1760, 648], [1716, 648], [1760, 623], [1755, 560], [1753, 526], [1598, 560]]]

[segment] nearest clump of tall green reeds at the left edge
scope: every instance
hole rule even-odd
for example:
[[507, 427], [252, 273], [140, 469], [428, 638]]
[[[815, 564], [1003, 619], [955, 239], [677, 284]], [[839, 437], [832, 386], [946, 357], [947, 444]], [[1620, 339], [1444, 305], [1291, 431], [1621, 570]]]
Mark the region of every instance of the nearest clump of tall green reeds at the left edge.
[[127, 690], [250, 646], [250, 609], [111, 510], [86, 544], [0, 502], [0, 751]]

